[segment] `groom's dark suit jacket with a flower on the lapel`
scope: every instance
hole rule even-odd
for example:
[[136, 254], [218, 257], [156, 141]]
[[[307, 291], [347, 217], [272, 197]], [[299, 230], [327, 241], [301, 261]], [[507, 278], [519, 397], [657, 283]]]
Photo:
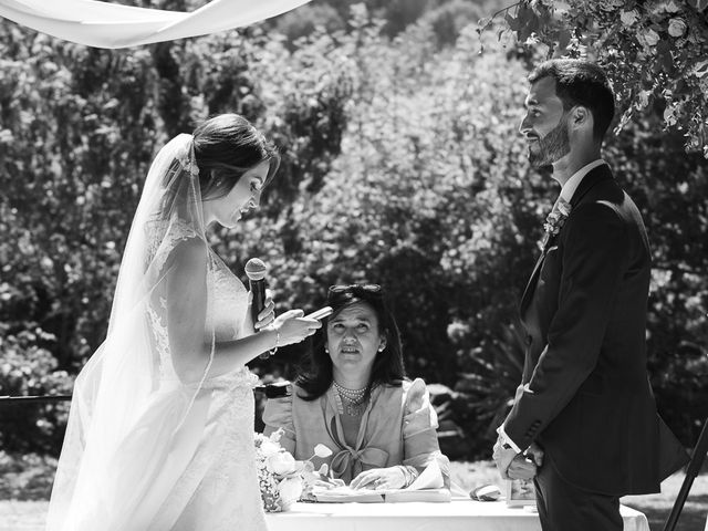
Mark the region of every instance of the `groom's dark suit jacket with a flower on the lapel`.
[[591, 170], [523, 293], [522, 385], [504, 431], [570, 483], [658, 492], [686, 452], [657, 416], [646, 371], [650, 256], [642, 217], [610, 168]]

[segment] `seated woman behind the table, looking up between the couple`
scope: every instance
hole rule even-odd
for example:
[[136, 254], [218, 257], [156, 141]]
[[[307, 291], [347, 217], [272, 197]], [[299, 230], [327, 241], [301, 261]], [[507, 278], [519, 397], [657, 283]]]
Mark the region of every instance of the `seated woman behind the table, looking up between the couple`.
[[264, 434], [283, 428], [280, 442], [295, 459], [324, 444], [333, 455], [315, 457], [315, 469], [327, 464], [353, 488], [404, 488], [434, 460], [449, 485], [437, 415], [423, 379], [405, 378], [382, 288], [334, 285], [327, 304], [334, 312], [315, 335], [309, 371], [266, 403]]

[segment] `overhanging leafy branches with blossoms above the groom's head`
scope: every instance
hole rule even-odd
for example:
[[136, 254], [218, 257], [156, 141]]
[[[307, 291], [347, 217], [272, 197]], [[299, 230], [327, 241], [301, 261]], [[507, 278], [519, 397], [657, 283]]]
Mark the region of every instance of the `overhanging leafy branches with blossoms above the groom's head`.
[[617, 95], [618, 129], [658, 113], [688, 150], [708, 158], [708, 2], [522, 0], [500, 13], [519, 43], [602, 64]]

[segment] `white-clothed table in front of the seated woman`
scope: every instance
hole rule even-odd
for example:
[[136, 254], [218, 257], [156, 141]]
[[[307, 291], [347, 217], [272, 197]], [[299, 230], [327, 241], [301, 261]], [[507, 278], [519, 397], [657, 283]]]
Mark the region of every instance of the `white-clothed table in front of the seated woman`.
[[[649, 531], [642, 512], [621, 512], [624, 531]], [[503, 501], [295, 503], [266, 520], [269, 531], [541, 531], [538, 513]]]

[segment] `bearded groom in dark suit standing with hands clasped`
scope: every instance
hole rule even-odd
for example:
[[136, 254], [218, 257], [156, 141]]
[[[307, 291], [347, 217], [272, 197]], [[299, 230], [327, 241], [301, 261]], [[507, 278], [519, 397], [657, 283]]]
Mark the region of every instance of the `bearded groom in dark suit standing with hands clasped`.
[[529, 160], [562, 188], [521, 299], [525, 363], [494, 460], [504, 478], [535, 475], [544, 531], [621, 531], [620, 497], [658, 492], [687, 460], [646, 373], [649, 246], [601, 158], [614, 115], [603, 70], [552, 60], [529, 82]]

